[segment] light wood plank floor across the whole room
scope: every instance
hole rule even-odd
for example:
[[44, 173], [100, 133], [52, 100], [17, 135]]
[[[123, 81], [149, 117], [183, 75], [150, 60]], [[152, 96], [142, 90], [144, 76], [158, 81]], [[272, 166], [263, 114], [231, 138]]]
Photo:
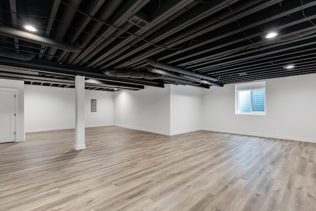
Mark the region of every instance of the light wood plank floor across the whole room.
[[0, 144], [1, 211], [315, 211], [316, 144], [121, 127]]

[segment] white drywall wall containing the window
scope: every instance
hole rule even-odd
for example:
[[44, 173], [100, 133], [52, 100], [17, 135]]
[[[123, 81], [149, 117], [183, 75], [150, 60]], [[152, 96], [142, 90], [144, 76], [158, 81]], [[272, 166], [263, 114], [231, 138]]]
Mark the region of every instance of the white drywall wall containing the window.
[[203, 90], [203, 128], [316, 142], [316, 74], [265, 81], [265, 116], [235, 114], [235, 84]]

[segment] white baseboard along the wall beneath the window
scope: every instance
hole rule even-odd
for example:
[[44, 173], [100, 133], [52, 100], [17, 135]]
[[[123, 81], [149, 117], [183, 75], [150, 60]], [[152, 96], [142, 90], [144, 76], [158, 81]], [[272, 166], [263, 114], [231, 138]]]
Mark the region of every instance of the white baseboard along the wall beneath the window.
[[286, 136], [286, 135], [275, 135], [275, 134], [266, 134], [266, 133], [255, 133], [255, 132], [245, 132], [245, 131], [235, 131], [235, 130], [223, 130], [216, 128], [202, 128], [203, 130], [214, 131], [214, 132], [225, 132], [225, 133], [233, 133], [239, 135], [252, 135], [259, 137], [267, 137], [267, 138], [278, 138], [278, 139], [286, 139], [293, 141], [305, 141], [316, 143], [316, 139], [314, 138], [302, 138], [302, 137], [294, 137], [294, 136]]

